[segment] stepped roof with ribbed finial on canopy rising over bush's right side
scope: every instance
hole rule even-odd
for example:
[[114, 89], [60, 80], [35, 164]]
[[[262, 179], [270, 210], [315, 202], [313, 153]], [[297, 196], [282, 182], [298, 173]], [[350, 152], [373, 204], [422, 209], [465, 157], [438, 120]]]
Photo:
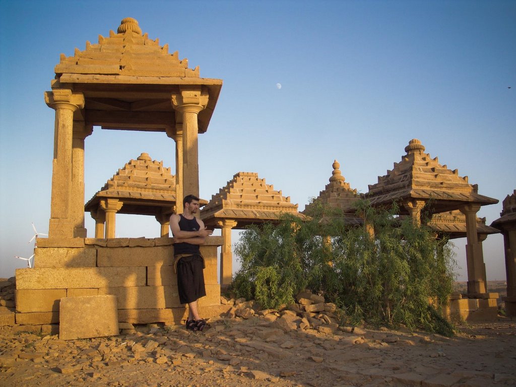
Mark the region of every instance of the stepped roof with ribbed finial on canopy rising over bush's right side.
[[[463, 203], [495, 204], [498, 200], [479, 195], [478, 186], [459, 176], [458, 170], [450, 170], [439, 164], [438, 158], [425, 153], [420, 140], [412, 139], [405, 147], [407, 154], [401, 162], [384, 176], [378, 176], [378, 183], [369, 185], [365, 197], [372, 205], [389, 206], [411, 199], [434, 200], [434, 213], [453, 211]], [[406, 210], [400, 205], [400, 212]]]

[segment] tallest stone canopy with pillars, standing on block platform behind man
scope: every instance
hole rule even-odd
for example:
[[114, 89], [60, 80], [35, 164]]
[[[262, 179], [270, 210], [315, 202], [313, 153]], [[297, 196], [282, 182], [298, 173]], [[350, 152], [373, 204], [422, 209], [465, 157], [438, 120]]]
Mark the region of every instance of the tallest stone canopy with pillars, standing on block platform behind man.
[[[54, 70], [44, 94], [55, 110], [49, 237], [86, 237], [84, 182], [72, 176], [84, 175], [85, 139], [94, 126], [165, 132], [175, 141], [176, 195], [199, 196], [198, 136], [207, 131], [221, 79], [201, 78], [167, 44], [142, 35], [132, 18], [98, 44], [62, 54]], [[176, 207], [182, 212], [183, 203]]]

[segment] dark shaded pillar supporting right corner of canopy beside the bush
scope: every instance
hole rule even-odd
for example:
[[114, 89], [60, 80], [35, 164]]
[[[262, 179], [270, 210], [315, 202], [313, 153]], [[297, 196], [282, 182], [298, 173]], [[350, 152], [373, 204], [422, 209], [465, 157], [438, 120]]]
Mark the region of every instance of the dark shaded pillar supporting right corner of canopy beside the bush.
[[466, 218], [467, 293], [486, 293], [482, 245], [479, 243], [477, 236], [477, 212], [480, 209], [480, 204], [464, 204], [459, 209]]

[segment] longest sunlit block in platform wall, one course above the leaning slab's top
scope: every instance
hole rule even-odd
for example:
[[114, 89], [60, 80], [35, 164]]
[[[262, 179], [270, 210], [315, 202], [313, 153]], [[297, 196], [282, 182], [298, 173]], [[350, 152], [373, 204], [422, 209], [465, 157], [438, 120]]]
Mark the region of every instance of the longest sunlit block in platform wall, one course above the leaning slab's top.
[[17, 289], [143, 286], [145, 267], [57, 267], [16, 270]]

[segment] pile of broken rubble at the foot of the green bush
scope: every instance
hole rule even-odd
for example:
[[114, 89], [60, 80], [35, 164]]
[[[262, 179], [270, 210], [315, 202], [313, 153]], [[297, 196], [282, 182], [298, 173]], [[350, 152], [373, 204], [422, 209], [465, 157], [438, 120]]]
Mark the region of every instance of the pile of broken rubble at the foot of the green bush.
[[359, 333], [358, 327], [342, 326], [338, 324], [338, 316], [335, 314], [337, 307], [332, 302], [326, 302], [325, 298], [305, 290], [296, 297], [297, 303], [284, 306], [279, 309], [261, 310], [256, 301], [246, 301], [244, 298], [227, 299], [221, 297], [222, 304], [232, 305], [226, 317], [251, 319], [260, 317], [272, 322], [272, 326], [284, 332], [291, 330], [314, 329], [319, 333], [335, 333], [337, 330]]

